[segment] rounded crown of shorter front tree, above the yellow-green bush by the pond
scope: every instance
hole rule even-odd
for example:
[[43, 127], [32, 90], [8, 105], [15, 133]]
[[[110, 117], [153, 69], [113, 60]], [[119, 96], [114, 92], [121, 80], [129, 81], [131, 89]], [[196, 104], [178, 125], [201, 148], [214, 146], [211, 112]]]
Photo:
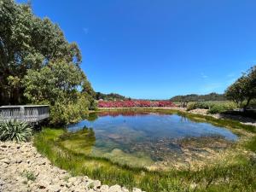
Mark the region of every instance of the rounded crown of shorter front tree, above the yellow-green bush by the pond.
[[24, 77], [25, 96], [34, 103], [73, 100], [82, 85], [84, 73], [66, 61], [49, 62], [39, 70], [29, 69]]

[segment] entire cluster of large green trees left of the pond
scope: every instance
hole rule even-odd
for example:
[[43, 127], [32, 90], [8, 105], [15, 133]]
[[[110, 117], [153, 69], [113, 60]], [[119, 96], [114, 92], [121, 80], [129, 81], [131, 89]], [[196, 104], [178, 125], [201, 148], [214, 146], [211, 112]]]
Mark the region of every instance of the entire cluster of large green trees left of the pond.
[[49, 104], [53, 124], [75, 122], [96, 107], [79, 46], [60, 26], [14, 0], [0, 0], [0, 23], [0, 105]]

